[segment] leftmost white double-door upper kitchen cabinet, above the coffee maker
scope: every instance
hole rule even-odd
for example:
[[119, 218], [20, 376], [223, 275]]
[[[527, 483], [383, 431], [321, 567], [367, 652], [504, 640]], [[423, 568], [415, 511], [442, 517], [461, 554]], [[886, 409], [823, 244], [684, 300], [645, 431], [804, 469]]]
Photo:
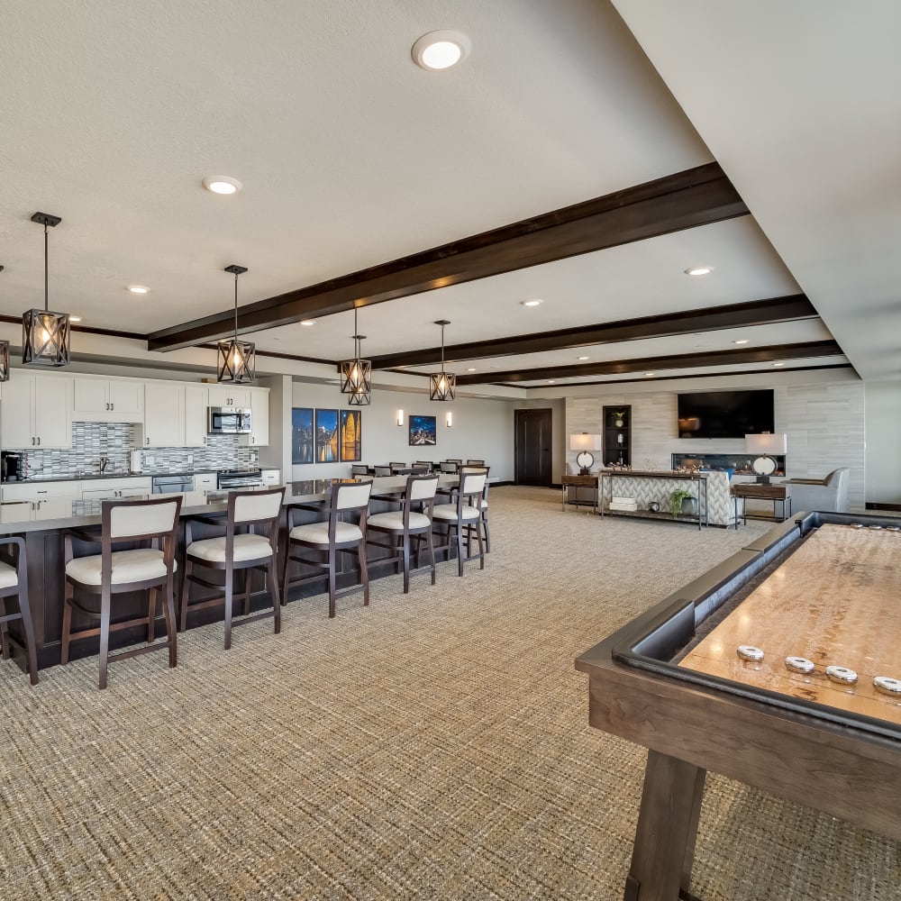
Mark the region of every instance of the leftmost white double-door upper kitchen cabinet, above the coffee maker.
[[16, 372], [0, 401], [0, 445], [8, 449], [72, 446], [73, 378]]

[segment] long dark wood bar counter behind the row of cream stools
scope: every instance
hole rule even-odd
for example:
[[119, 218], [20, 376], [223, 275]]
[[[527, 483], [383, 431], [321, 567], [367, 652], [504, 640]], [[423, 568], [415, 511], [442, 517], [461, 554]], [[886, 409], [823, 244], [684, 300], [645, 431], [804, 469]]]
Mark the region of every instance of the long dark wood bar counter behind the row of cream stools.
[[[439, 479], [440, 489], [450, 489], [458, 484], [457, 476], [441, 476]], [[286, 485], [284, 507], [296, 504], [315, 504], [328, 500], [331, 496], [332, 479], [316, 479], [311, 481], [289, 482]], [[341, 479], [340, 481], [356, 481], [356, 479]], [[406, 485], [405, 476], [384, 476], [372, 479], [373, 495], [391, 495], [392, 493], [403, 492]], [[253, 490], [253, 489], [242, 489]], [[268, 487], [260, 487], [256, 490], [268, 490]], [[155, 499], [166, 497], [167, 495], [153, 495]], [[226, 514], [228, 496], [227, 491], [189, 491], [181, 493], [182, 507], [180, 519], [182, 523], [196, 516], [222, 516], [223, 520]], [[128, 500], [141, 500], [141, 497], [127, 498]], [[0, 524], [0, 536], [21, 535], [25, 541], [25, 553], [28, 568], [28, 595], [29, 602], [32, 607], [32, 620], [34, 625], [35, 644], [37, 646], [38, 667], [45, 669], [59, 663], [59, 640], [62, 631], [62, 611], [63, 611], [63, 586], [65, 578], [65, 557], [64, 557], [64, 536], [69, 529], [94, 530], [96, 529], [98, 543], [92, 544], [81, 542], [77, 538], [73, 539], [73, 550], [77, 557], [86, 556], [100, 552], [100, 509], [103, 501], [100, 500], [73, 500], [72, 513], [68, 517], [48, 520], [32, 520], [32, 505], [25, 504], [3, 504], [0, 505], [0, 518], [3, 522]], [[384, 510], [393, 509], [389, 501], [374, 498], [370, 501], [370, 513], [380, 513]], [[296, 521], [300, 523], [312, 523], [325, 518], [325, 514], [317, 514], [314, 510], [300, 510], [295, 514]], [[192, 524], [194, 532], [194, 540], [214, 537], [222, 534], [221, 529], [206, 523], [195, 522]], [[279, 527], [279, 560], [278, 560], [278, 578], [282, 578], [282, 554], [286, 542], [287, 532], [287, 513], [283, 510], [282, 520]], [[183, 568], [184, 550], [185, 550], [185, 530], [183, 524], [178, 528], [178, 572], [176, 573], [176, 607], [181, 592], [181, 569]], [[126, 545], [127, 547], [127, 545]], [[117, 547], [118, 550], [118, 547]], [[377, 560], [378, 557], [384, 556], [384, 552], [369, 548], [369, 559]], [[341, 555], [341, 562], [346, 559], [345, 567], [341, 569], [339, 575], [339, 583], [350, 585], [357, 580], [357, 570], [353, 566], [353, 560], [350, 555]], [[310, 572], [312, 573], [312, 569]], [[294, 570], [292, 570], [294, 572]], [[371, 574], [370, 578], [393, 575], [392, 567], [378, 567]], [[251, 589], [250, 603], [251, 607], [262, 608], [268, 605], [268, 593], [263, 590], [263, 576], [261, 572], [254, 571], [251, 575], [253, 579], [253, 588]], [[241, 585], [239, 581], [238, 585]], [[192, 599], [200, 587], [192, 585]], [[320, 594], [326, 590], [326, 584], [323, 579], [323, 585], [314, 583], [308, 586], [293, 588], [287, 600], [295, 600], [301, 596], [310, 596]], [[236, 592], [237, 594], [237, 592]], [[147, 593], [132, 592], [123, 593], [114, 596], [113, 617], [114, 621], [130, 619], [134, 616], [141, 615], [141, 611], [146, 615]], [[323, 604], [323, 616], [328, 615], [327, 603]], [[159, 615], [159, 625], [157, 634], [165, 633], [165, 625], [163, 624], [162, 615]], [[206, 623], [216, 622], [223, 619], [223, 609], [221, 607], [206, 608], [188, 615], [188, 628], [193, 628]], [[74, 629], [83, 628], [89, 624], [96, 624], [95, 621], [88, 620], [83, 614], [78, 614], [76, 610], [73, 613], [72, 625]], [[11, 623], [10, 628], [16, 632], [18, 623]], [[141, 642], [143, 638], [141, 628], [125, 629], [118, 633], [113, 633], [110, 638], [110, 648], [123, 647], [124, 645]], [[84, 641], [73, 642], [71, 646], [70, 656], [75, 659], [78, 657], [86, 657], [96, 655], [98, 653], [98, 640], [86, 639]], [[21, 664], [21, 661], [20, 661]]]

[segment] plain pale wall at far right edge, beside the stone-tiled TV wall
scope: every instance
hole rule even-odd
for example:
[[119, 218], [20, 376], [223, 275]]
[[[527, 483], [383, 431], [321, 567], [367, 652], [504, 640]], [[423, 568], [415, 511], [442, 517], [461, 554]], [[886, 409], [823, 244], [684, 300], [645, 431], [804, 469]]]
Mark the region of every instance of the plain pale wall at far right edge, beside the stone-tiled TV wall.
[[867, 500], [901, 504], [901, 381], [867, 382]]

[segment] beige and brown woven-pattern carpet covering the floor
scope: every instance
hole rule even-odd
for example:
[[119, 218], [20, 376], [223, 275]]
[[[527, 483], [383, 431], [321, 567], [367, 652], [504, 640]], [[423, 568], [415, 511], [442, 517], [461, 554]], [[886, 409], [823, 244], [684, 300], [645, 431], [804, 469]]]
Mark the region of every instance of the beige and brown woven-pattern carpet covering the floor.
[[[587, 725], [596, 643], [764, 531], [491, 496], [487, 569], [288, 605], [222, 651], [0, 665], [0, 898], [614, 899], [644, 753]], [[72, 713], [79, 711], [78, 714]], [[901, 849], [710, 777], [705, 901], [901, 898]]]

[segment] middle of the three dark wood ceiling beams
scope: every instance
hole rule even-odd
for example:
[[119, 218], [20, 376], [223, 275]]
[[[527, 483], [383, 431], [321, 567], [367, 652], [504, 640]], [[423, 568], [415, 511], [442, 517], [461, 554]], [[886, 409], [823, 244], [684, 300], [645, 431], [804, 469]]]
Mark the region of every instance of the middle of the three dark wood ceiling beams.
[[[803, 294], [771, 297], [745, 304], [712, 306], [704, 310], [687, 310], [658, 316], [642, 316], [615, 323], [580, 325], [556, 332], [514, 335], [488, 341], [469, 341], [445, 346], [444, 359], [460, 362], [467, 359], [506, 357], [513, 354], [541, 353], [546, 350], [590, 347], [593, 344], [612, 344], [618, 341], [637, 341], [641, 338], [665, 338], [673, 335], [716, 332], [720, 329], [750, 328], [754, 325], [817, 319], [814, 305]], [[441, 359], [441, 348], [406, 350], [386, 353], [372, 358], [373, 369], [398, 369], [405, 366], [427, 366]]]

